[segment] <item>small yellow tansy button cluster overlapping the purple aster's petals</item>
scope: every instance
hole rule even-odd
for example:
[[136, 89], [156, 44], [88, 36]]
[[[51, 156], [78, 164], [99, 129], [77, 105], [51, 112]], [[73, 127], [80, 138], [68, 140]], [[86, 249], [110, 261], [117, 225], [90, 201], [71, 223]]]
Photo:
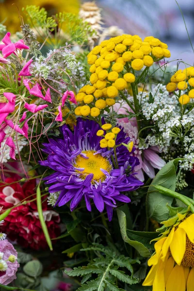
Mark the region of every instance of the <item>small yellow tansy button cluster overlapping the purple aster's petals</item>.
[[[114, 147], [116, 136], [121, 131], [121, 129], [118, 127], [112, 128], [110, 123], [103, 124], [101, 128], [102, 129], [97, 131], [97, 136], [103, 137], [100, 140], [100, 147]], [[104, 131], [106, 131], [106, 133]]]

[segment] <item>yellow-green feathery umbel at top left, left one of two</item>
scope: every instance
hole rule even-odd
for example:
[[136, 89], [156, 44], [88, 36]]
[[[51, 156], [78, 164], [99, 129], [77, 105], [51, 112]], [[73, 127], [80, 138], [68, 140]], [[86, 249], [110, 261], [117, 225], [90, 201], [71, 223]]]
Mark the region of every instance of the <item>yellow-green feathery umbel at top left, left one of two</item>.
[[40, 8], [40, 6], [36, 5], [27, 5], [26, 8], [23, 8], [23, 11], [26, 12], [26, 16], [34, 27], [53, 31], [57, 26], [56, 21], [52, 17], [47, 17], [45, 8]]

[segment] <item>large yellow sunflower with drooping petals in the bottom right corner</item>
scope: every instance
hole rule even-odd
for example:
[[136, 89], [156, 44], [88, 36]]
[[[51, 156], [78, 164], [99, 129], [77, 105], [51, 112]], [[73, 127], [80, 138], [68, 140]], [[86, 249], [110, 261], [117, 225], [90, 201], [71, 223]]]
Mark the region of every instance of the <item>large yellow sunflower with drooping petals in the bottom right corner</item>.
[[194, 291], [194, 214], [178, 214], [174, 223], [155, 243], [155, 254], [148, 260], [152, 267], [143, 286], [153, 286], [153, 291]]

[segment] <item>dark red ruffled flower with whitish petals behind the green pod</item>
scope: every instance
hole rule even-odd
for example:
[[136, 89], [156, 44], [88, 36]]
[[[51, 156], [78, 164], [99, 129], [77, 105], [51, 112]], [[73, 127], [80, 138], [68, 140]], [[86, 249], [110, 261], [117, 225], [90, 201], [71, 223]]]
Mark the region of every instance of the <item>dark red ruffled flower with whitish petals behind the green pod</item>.
[[[14, 181], [13, 178], [5, 180], [6, 183]], [[3, 210], [13, 207], [22, 200], [32, 200], [36, 197], [35, 179], [26, 182], [22, 187], [19, 183], [10, 186], [2, 185], [4, 184], [0, 184], [0, 206], [3, 207]], [[43, 198], [45, 199], [45, 197]], [[42, 203], [42, 208], [50, 238], [56, 238], [60, 235], [59, 214], [50, 210], [46, 201]], [[1, 226], [2, 231], [6, 230], [6, 234], [12, 241], [16, 240], [21, 246], [31, 247], [35, 250], [48, 247], [38, 217], [36, 201], [14, 208], [4, 221]]]

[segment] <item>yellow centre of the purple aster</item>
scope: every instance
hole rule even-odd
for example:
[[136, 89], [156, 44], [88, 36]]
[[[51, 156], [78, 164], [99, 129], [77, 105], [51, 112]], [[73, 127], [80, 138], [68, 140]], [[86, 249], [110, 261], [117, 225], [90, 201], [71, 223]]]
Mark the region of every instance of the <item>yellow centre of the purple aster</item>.
[[77, 171], [80, 173], [80, 178], [85, 179], [87, 175], [94, 174], [93, 180], [98, 182], [99, 180], [104, 181], [106, 179], [106, 175], [100, 169], [104, 169], [110, 173], [111, 164], [109, 161], [100, 154], [95, 155], [95, 151], [93, 150], [84, 150], [82, 153], [85, 154], [88, 159], [85, 159], [79, 155], [77, 156], [76, 164], [74, 165], [76, 168], [84, 168], [83, 171]]

